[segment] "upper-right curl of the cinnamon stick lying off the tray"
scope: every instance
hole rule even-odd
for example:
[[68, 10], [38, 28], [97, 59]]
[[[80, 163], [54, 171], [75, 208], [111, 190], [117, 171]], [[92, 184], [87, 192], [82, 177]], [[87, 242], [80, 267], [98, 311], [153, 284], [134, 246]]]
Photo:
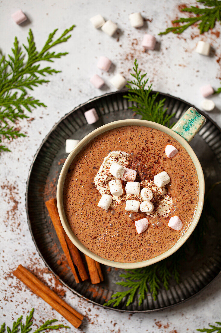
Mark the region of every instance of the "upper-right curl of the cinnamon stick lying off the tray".
[[68, 311], [73, 313], [77, 318], [83, 320], [84, 316], [73, 309], [70, 305], [68, 305], [62, 298], [60, 298], [54, 291], [52, 291], [48, 286], [46, 286], [43, 282], [41, 282], [33, 273], [31, 273], [28, 269], [19, 265], [17, 270], [19, 270], [24, 276], [26, 276], [29, 280], [36, 284], [36, 286], [45, 292], [48, 296], [53, 298], [56, 302], [66, 308]]

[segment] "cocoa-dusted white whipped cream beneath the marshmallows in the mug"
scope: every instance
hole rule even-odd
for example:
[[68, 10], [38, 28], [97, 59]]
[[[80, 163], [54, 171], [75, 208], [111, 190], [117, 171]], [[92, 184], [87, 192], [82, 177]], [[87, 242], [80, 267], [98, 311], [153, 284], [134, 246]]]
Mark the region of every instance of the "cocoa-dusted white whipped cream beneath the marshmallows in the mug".
[[[119, 165], [126, 167], [130, 156], [126, 152], [122, 151], [113, 151], [104, 158], [102, 165], [100, 166], [98, 172], [94, 177], [94, 184], [100, 194], [109, 194], [111, 195], [109, 182], [115, 179], [110, 173], [110, 166], [113, 163], [118, 163]], [[154, 209], [151, 213], [146, 213], [146, 215], [151, 216], [152, 218], [156, 217], [166, 217], [170, 212], [172, 207], [172, 197], [168, 189], [163, 187], [158, 187], [155, 185], [154, 181], [145, 179], [140, 183], [141, 187], [147, 187], [153, 192], [153, 198], [151, 202], [154, 205]], [[113, 200], [111, 207], [115, 207], [126, 200], [138, 200], [141, 202], [144, 201], [142, 196], [139, 194], [128, 194], [123, 188], [123, 194], [121, 196], [111, 195]]]

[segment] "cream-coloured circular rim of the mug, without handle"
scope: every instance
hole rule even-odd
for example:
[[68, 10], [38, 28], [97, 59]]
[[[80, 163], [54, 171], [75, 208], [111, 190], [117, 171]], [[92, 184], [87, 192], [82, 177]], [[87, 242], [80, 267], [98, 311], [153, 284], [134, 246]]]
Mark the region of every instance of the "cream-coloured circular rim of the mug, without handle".
[[[64, 212], [64, 207], [63, 207], [63, 186], [64, 186], [64, 181], [66, 178], [66, 174], [67, 174], [67, 170], [70, 166], [70, 164], [72, 163], [73, 159], [75, 158], [75, 156], [83, 149], [83, 147], [90, 142], [91, 140], [93, 140], [95, 137], [97, 137], [98, 135], [110, 131], [114, 128], [118, 128], [118, 127], [124, 127], [124, 126], [145, 126], [145, 127], [150, 127], [150, 128], [154, 128], [157, 130], [160, 130], [161, 132], [164, 132], [168, 135], [170, 135], [172, 138], [176, 139], [183, 147], [184, 149], [187, 151], [187, 153], [189, 154], [195, 168], [196, 168], [196, 172], [197, 172], [197, 177], [198, 177], [198, 181], [199, 181], [199, 198], [198, 198], [198, 204], [197, 204], [197, 208], [195, 211], [195, 215], [193, 217], [193, 220], [191, 222], [191, 224], [189, 225], [188, 229], [186, 230], [186, 232], [184, 233], [184, 235], [178, 240], [178, 242], [173, 245], [170, 249], [168, 249], [166, 252], [151, 258], [151, 259], [147, 259], [144, 261], [139, 261], [139, 262], [130, 262], [130, 263], [125, 263], [125, 262], [117, 262], [117, 261], [112, 261], [109, 259], [105, 259], [103, 257], [98, 256], [97, 254], [95, 254], [94, 252], [90, 251], [85, 245], [83, 245], [78, 238], [74, 235], [74, 233], [72, 232], [69, 223], [66, 219], [65, 216], [65, 212]], [[195, 229], [202, 209], [203, 209], [203, 201], [204, 201], [204, 192], [205, 192], [205, 183], [204, 183], [204, 175], [203, 175], [203, 171], [202, 171], [202, 166], [196, 156], [196, 154], [194, 153], [193, 149], [190, 147], [190, 145], [187, 143], [187, 141], [180, 136], [179, 134], [177, 134], [176, 132], [174, 132], [173, 130], [171, 130], [170, 128], [163, 126], [161, 124], [158, 123], [154, 123], [151, 121], [147, 121], [147, 120], [140, 120], [140, 119], [124, 119], [124, 120], [118, 120], [115, 122], [111, 122], [108, 123], [106, 125], [103, 125], [97, 129], [95, 129], [94, 131], [92, 131], [91, 133], [89, 133], [86, 137], [84, 137], [79, 143], [78, 145], [72, 150], [72, 152], [68, 155], [58, 178], [58, 184], [57, 184], [57, 192], [56, 192], [56, 196], [57, 196], [57, 208], [58, 208], [58, 213], [60, 216], [60, 220], [62, 223], [62, 226], [66, 232], [66, 234], [68, 235], [68, 237], [70, 238], [70, 240], [72, 241], [72, 243], [84, 254], [86, 254], [87, 256], [91, 257], [92, 259], [104, 264], [104, 265], [108, 265], [111, 267], [116, 267], [116, 268], [122, 268], [122, 269], [134, 269], [134, 268], [141, 268], [141, 267], [146, 267], [149, 265], [152, 265], [156, 262], [159, 262], [167, 257], [169, 257], [170, 255], [172, 255], [174, 252], [176, 252], [184, 243], [185, 241], [189, 238], [189, 236], [191, 235], [191, 233], [193, 232], [193, 230]]]

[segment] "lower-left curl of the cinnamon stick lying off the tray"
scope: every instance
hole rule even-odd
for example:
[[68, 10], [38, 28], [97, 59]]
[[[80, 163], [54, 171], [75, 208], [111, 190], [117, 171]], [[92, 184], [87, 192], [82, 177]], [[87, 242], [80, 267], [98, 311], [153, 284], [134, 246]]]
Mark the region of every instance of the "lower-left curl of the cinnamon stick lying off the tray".
[[73, 313], [67, 310], [67, 308], [63, 307], [59, 303], [49, 296], [48, 293], [44, 292], [42, 289], [40, 289], [32, 280], [30, 280], [23, 272], [21, 272], [19, 269], [16, 269], [13, 274], [21, 280], [28, 288], [30, 288], [37, 296], [41, 297], [45, 302], [47, 302], [53, 309], [55, 309], [57, 312], [59, 312], [65, 319], [69, 321], [74, 327], [78, 328], [82, 320], [77, 318]]

